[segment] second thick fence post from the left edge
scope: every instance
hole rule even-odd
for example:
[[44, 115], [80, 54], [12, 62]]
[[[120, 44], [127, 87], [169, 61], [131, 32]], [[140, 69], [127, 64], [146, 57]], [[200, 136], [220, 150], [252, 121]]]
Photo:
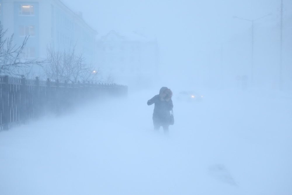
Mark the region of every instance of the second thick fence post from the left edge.
[[25, 122], [26, 121], [26, 116], [27, 116], [27, 101], [26, 101], [26, 85], [25, 85], [25, 77], [24, 75], [21, 75], [21, 80], [20, 80], [20, 115], [19, 115], [19, 120], [20, 122]]

